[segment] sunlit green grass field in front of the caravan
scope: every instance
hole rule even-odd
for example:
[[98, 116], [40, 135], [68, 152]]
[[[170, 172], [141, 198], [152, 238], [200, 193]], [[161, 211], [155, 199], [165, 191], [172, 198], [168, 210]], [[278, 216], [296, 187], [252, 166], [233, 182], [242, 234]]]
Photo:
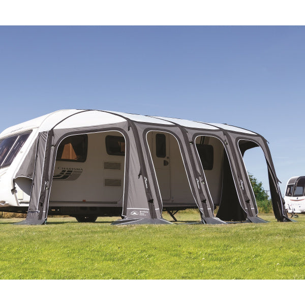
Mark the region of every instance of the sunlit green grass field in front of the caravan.
[[200, 219], [194, 211], [174, 225], [0, 219], [0, 279], [305, 279], [305, 216], [259, 216], [269, 223], [190, 224]]

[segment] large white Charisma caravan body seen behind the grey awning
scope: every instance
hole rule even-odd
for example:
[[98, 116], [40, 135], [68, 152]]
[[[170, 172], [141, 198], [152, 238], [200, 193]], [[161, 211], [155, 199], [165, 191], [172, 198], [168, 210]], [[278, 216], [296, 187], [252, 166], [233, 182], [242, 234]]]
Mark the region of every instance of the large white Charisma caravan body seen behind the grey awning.
[[[69, 114], [59, 110], [0, 134], [0, 210], [27, 211], [33, 180], [16, 177], [16, 172], [43, 126], [56, 123], [58, 115]], [[197, 208], [175, 137], [151, 131], [147, 143], [164, 209], [173, 216], [176, 210]], [[95, 221], [97, 216], [121, 216], [124, 176], [123, 134], [107, 131], [68, 136], [57, 148], [48, 214], [71, 215], [80, 222]]]

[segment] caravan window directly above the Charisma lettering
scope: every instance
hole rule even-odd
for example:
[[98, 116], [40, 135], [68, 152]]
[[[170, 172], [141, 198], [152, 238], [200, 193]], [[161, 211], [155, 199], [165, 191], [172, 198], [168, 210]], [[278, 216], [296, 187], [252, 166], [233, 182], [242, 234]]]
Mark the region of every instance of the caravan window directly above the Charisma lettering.
[[70, 136], [60, 142], [56, 161], [85, 162], [87, 159], [88, 136]]

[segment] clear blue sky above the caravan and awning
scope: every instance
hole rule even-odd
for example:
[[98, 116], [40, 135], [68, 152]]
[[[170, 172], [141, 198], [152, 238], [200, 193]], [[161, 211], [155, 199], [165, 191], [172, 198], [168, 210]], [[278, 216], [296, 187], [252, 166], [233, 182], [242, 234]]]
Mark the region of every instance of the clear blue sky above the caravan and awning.
[[[227, 123], [305, 175], [304, 26], [0, 26], [0, 129], [69, 108]], [[258, 148], [247, 169], [269, 190]]]

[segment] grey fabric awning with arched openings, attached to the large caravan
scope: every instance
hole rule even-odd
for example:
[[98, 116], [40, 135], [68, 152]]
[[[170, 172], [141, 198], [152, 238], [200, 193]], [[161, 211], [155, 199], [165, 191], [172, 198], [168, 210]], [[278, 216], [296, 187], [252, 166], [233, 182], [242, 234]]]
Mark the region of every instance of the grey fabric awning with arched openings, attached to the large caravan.
[[[80, 111], [79, 113], [84, 115], [85, 111], [89, 110]], [[75, 119], [79, 113], [72, 114], [69, 117], [73, 116]], [[105, 113], [109, 112], [105, 111]], [[60, 128], [60, 126], [64, 126], [64, 124], [59, 124], [63, 122], [61, 120], [52, 129], [40, 132], [15, 175], [15, 178], [22, 176], [33, 179], [31, 199], [26, 218], [27, 223], [30, 221], [31, 223], [37, 222], [37, 224], [41, 224], [47, 219], [55, 157], [59, 143], [70, 135], [107, 131], [118, 131], [126, 139], [122, 216], [128, 222], [133, 219], [162, 219], [161, 194], [146, 141], [147, 133], [156, 130], [168, 132], [178, 141], [191, 192], [200, 210], [202, 223], [222, 223], [222, 221], [218, 221], [214, 217], [214, 205], [195, 147], [195, 139], [198, 135], [214, 136], [223, 143], [228, 157], [228, 171], [231, 172], [232, 177], [230, 188], [235, 188], [237, 208], [241, 214], [245, 213], [249, 220], [257, 217], [258, 211], [248, 174], [239, 151], [238, 140], [253, 141], [259, 145], [263, 149], [267, 160], [270, 192], [276, 218], [280, 221], [284, 221], [287, 218], [278, 186], [278, 178], [275, 174], [267, 143], [263, 137], [254, 133], [241, 134], [235, 131], [228, 131], [220, 127], [217, 129], [197, 128], [200, 124], [196, 124], [196, 128], [191, 128], [181, 126], [177, 122], [169, 124], [170, 120], [166, 124], [157, 124], [153, 119], [145, 122], [131, 119], [134, 117], [132, 115], [124, 116], [121, 113], [111, 113], [111, 115], [124, 119], [118, 120], [116, 123], [102, 124], [101, 122], [101, 125], [81, 127], [75, 127], [75, 121], [77, 120], [74, 120], [72, 122], [74, 125], [71, 123], [71, 127], [68, 124], [67, 126], [69, 127], [66, 128]], [[95, 116], [96, 120], [97, 117]], [[158, 121], [162, 122], [161, 119]]]

